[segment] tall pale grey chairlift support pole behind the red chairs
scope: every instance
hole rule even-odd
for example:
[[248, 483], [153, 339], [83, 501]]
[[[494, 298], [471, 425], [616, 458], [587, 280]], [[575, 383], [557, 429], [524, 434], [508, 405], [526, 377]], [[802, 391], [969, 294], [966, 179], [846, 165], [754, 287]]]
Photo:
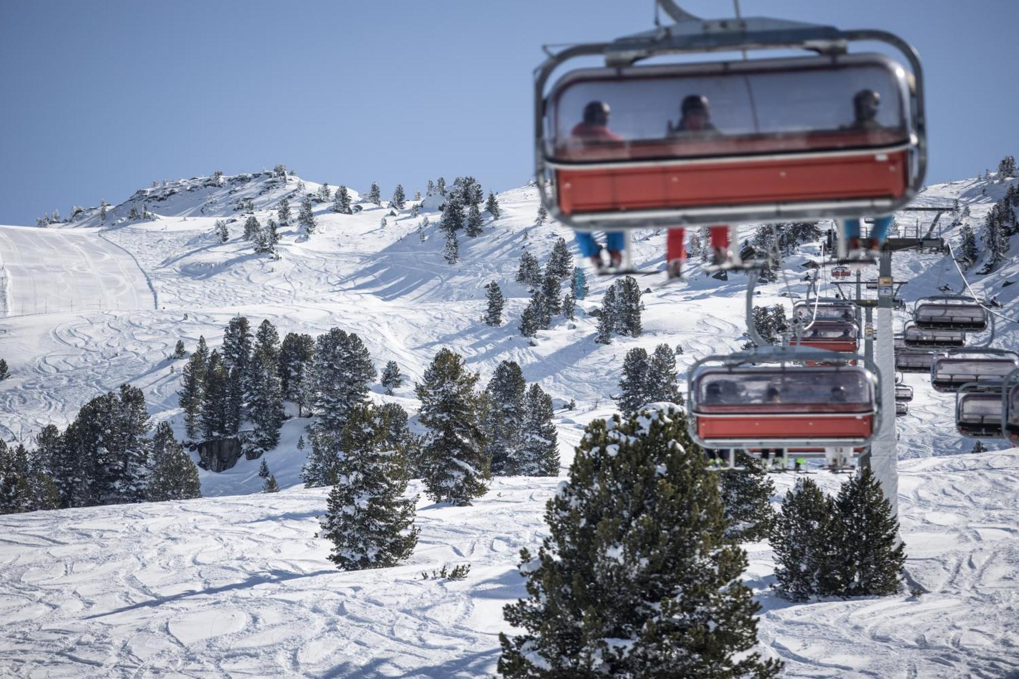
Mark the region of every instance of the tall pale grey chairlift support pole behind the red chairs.
[[866, 460], [892, 506], [892, 516], [899, 517], [899, 457], [896, 450], [895, 423], [895, 341], [892, 330], [892, 251], [881, 250], [877, 276], [877, 323], [875, 332], [877, 369], [880, 372], [881, 421], [876, 440]]

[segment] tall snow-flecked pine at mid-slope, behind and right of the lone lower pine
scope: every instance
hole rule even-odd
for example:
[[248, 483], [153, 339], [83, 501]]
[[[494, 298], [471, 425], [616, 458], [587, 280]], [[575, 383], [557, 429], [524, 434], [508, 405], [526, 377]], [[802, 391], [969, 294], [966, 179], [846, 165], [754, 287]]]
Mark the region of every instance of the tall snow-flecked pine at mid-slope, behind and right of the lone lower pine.
[[435, 502], [462, 507], [488, 490], [491, 461], [485, 454], [482, 399], [474, 390], [478, 377], [462, 356], [442, 349], [415, 385], [418, 418], [428, 428], [421, 451], [425, 488]]

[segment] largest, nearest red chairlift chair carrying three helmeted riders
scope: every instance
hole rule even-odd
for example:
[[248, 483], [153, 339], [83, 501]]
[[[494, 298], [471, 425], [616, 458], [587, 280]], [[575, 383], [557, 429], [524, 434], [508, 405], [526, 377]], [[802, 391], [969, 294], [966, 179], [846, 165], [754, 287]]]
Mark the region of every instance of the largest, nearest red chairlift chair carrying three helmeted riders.
[[[535, 175], [553, 217], [587, 231], [815, 220], [889, 214], [916, 195], [926, 168], [923, 77], [908, 43], [772, 18], [680, 18], [612, 42], [546, 48], [535, 70]], [[904, 59], [850, 54], [861, 41]], [[789, 49], [815, 55], [639, 63]], [[552, 83], [584, 57], [604, 66]], [[861, 113], [854, 98], [867, 92], [879, 105]], [[677, 121], [684, 100], [700, 102], [701, 123]], [[589, 106], [601, 113], [585, 117]]]

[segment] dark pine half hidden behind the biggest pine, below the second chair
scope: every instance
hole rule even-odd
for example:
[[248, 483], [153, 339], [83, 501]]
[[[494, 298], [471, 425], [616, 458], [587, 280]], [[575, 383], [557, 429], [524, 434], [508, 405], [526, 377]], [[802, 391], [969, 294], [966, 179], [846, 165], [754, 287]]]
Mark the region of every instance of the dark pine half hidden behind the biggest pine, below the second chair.
[[718, 474], [721, 504], [726, 506], [729, 527], [726, 536], [737, 542], [755, 542], [768, 536], [774, 524], [771, 495], [774, 482], [764, 464], [737, 451], [736, 464], [743, 469], [732, 469]]

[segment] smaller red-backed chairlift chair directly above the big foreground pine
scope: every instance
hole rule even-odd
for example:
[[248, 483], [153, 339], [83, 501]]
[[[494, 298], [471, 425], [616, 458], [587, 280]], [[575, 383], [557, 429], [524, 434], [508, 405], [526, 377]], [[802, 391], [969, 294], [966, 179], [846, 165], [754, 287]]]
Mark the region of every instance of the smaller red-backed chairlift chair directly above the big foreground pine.
[[766, 348], [697, 361], [688, 375], [691, 437], [704, 448], [866, 445], [877, 430], [876, 367], [833, 352]]

